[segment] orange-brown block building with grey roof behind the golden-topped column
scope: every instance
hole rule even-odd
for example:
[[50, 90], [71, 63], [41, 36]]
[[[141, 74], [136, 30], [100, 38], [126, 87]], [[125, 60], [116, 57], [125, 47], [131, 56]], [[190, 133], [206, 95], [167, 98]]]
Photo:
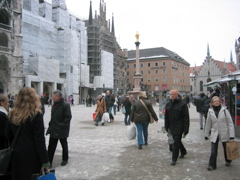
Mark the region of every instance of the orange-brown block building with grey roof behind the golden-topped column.
[[[133, 89], [136, 74], [136, 51], [127, 51], [128, 89]], [[190, 64], [164, 47], [140, 49], [141, 88], [149, 94], [160, 95], [165, 90], [178, 89], [181, 94], [190, 92]]]

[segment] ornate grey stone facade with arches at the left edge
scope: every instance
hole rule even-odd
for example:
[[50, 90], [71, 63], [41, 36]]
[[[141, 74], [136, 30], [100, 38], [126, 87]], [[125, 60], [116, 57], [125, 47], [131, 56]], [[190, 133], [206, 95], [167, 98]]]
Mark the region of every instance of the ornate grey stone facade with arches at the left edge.
[[0, 1], [0, 93], [17, 94], [24, 85], [22, 1]]

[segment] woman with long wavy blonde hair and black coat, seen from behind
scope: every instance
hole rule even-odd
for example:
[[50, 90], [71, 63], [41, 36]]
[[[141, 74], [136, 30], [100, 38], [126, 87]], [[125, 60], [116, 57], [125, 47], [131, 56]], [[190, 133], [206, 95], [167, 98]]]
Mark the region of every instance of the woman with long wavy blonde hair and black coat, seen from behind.
[[13, 147], [12, 180], [31, 179], [32, 174], [50, 166], [41, 102], [33, 88], [24, 87], [19, 91], [8, 117], [7, 132], [10, 141], [20, 128]]

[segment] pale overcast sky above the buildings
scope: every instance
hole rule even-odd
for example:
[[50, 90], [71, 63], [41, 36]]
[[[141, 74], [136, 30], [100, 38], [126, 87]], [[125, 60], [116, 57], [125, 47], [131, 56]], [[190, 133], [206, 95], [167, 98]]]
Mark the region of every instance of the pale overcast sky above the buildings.
[[[165, 47], [191, 66], [202, 65], [207, 55], [230, 61], [240, 37], [240, 0], [104, 0], [107, 20], [114, 14], [115, 35], [122, 49]], [[88, 19], [90, 0], [66, 0], [67, 8]], [[92, 0], [93, 17], [100, 0]]]

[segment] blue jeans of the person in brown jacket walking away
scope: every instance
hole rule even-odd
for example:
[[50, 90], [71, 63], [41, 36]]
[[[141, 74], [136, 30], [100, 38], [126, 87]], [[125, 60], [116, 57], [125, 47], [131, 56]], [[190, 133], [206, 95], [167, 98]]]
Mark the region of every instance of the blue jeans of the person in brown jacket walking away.
[[143, 145], [143, 136], [145, 144], [148, 143], [148, 125], [149, 122], [135, 122], [137, 127], [138, 145]]

